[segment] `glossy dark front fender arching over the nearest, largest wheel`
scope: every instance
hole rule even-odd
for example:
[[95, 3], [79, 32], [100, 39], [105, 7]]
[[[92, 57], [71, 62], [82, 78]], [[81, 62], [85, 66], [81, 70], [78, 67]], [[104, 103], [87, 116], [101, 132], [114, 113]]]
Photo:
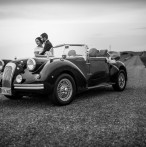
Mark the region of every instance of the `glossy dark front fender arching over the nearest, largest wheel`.
[[45, 81], [49, 87], [54, 87], [57, 78], [63, 74], [70, 74], [76, 83], [77, 92], [83, 91], [87, 86], [87, 80], [83, 72], [72, 62], [65, 59], [58, 59], [52, 63], [47, 62], [40, 74], [42, 80]]

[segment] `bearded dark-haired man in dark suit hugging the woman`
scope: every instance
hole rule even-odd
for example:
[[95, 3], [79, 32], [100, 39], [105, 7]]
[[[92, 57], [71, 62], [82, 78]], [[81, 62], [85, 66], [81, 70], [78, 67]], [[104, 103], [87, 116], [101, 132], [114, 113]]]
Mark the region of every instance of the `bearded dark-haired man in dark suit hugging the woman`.
[[40, 53], [40, 55], [44, 55], [46, 51], [50, 51], [50, 49], [53, 47], [52, 43], [48, 40], [48, 35], [46, 33], [42, 33], [40, 35], [41, 40], [44, 43], [44, 49], [43, 51]]

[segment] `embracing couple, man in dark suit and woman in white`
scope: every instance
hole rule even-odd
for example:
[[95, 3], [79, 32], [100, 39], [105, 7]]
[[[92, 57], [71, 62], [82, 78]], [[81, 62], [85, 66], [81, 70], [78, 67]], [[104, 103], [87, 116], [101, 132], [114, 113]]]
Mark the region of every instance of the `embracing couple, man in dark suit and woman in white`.
[[46, 33], [42, 33], [40, 37], [37, 37], [35, 42], [37, 44], [37, 47], [34, 49], [35, 56], [46, 55], [53, 47], [51, 42], [48, 40], [48, 35]]

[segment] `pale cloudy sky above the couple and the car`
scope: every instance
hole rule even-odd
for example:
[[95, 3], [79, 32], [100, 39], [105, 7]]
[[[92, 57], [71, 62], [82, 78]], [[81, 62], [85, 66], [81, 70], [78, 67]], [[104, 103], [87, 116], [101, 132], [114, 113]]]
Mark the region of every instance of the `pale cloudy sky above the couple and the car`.
[[0, 0], [0, 59], [33, 57], [35, 38], [146, 50], [146, 0]]

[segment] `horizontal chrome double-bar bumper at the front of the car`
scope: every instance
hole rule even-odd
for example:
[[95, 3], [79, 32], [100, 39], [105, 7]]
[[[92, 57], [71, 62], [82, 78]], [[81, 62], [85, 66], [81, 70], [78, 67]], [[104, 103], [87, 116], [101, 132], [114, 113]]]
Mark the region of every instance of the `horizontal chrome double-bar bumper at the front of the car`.
[[14, 89], [42, 90], [44, 89], [44, 84], [14, 84]]

